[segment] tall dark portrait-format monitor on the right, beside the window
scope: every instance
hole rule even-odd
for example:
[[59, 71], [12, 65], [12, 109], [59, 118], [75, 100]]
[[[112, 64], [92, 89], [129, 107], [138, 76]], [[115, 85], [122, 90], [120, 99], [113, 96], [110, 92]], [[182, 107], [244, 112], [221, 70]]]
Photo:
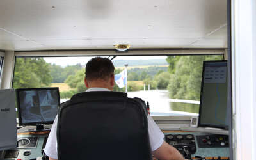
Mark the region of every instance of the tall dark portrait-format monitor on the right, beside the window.
[[204, 61], [198, 127], [228, 129], [227, 61]]

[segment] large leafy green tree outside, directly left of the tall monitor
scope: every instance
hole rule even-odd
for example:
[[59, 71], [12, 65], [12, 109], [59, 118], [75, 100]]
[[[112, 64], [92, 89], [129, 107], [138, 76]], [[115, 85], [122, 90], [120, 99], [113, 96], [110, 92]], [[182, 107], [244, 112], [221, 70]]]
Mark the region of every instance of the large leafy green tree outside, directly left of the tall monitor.
[[203, 61], [222, 59], [223, 56], [180, 56], [166, 60], [171, 65], [174, 64], [174, 67], [170, 67], [172, 69], [169, 70], [171, 73], [168, 84], [170, 97], [172, 99], [199, 100]]

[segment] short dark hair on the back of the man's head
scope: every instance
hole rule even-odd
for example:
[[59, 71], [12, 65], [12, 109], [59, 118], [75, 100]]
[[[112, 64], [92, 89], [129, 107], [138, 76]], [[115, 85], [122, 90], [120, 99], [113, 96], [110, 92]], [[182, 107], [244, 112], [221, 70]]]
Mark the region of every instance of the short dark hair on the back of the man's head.
[[108, 58], [92, 58], [85, 67], [85, 77], [88, 81], [108, 79], [114, 74], [115, 67]]

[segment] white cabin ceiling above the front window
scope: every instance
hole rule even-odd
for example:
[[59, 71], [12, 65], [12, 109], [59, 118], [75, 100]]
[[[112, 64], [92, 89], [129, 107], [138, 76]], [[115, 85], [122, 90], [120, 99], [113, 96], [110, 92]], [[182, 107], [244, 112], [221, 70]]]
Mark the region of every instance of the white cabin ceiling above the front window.
[[1, 0], [0, 50], [227, 48], [226, 0]]

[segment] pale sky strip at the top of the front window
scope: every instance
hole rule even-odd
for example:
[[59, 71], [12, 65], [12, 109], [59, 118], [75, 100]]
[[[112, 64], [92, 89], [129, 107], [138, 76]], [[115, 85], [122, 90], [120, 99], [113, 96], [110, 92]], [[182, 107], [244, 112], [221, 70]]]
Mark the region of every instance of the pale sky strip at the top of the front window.
[[[65, 67], [67, 65], [76, 65], [77, 63], [80, 63], [81, 65], [85, 65], [87, 61], [89, 61], [93, 57], [94, 56], [44, 57], [44, 60], [47, 63], [52, 63], [55, 65], [61, 65], [62, 67]], [[117, 56], [114, 60], [152, 60], [152, 59], [166, 59], [166, 56]]]

